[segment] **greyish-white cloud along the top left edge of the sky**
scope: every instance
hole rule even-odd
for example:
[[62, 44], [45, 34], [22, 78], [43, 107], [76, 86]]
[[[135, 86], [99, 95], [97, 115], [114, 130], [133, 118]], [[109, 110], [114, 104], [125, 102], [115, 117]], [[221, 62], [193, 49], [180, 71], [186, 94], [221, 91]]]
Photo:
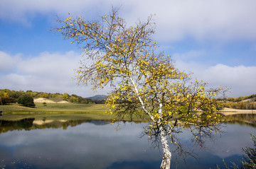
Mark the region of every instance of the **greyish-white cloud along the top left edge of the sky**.
[[83, 13], [86, 16], [92, 16], [104, 8], [104, 4], [105, 1], [100, 0], [3, 0], [0, 1], [0, 18], [29, 25], [29, 20], [38, 14], [55, 17], [56, 14], [67, 16], [68, 13], [73, 15]]

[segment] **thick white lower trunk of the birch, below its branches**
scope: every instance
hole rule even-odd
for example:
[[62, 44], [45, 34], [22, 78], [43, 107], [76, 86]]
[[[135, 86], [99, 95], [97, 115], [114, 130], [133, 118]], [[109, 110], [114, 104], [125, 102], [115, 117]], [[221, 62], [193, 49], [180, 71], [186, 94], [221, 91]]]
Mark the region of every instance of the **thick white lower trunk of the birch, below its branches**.
[[161, 145], [164, 151], [160, 169], [170, 169], [171, 168], [171, 151], [170, 151], [168, 140], [167, 140], [167, 133], [164, 131], [163, 127], [160, 127], [160, 131], [161, 131], [160, 132]]

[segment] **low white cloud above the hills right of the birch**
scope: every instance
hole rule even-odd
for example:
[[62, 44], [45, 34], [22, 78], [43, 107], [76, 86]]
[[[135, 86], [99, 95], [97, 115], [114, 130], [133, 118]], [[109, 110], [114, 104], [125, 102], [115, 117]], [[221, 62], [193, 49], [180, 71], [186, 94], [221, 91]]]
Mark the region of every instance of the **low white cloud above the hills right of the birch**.
[[256, 66], [227, 66], [216, 64], [206, 66], [196, 62], [176, 61], [176, 67], [181, 71], [193, 72], [193, 77], [210, 83], [210, 87], [227, 86], [228, 97], [252, 95], [256, 93]]

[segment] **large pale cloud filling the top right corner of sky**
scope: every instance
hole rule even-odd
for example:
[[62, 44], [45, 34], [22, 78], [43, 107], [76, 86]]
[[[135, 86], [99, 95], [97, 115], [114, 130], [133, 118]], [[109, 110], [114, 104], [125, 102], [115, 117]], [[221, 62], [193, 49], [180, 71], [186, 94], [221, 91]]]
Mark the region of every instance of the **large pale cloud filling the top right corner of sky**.
[[[162, 40], [255, 40], [256, 1], [129, 1], [132, 16], [156, 13], [157, 36]], [[125, 5], [124, 5], [125, 8]], [[129, 17], [129, 16], [128, 16]]]

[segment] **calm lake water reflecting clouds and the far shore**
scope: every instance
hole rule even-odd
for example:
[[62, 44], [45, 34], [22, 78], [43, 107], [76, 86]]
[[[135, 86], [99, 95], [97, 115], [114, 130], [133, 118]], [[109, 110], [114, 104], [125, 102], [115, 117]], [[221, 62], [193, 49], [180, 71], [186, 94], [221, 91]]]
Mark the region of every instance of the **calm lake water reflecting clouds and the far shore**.
[[[216, 164], [242, 159], [242, 148], [253, 146], [255, 115], [229, 116], [223, 134], [193, 146], [190, 134], [180, 134], [181, 142], [192, 148], [196, 158], [175, 153], [173, 168], [216, 168]], [[0, 168], [159, 168], [161, 148], [142, 136], [146, 123], [104, 120], [26, 120], [0, 123]], [[192, 151], [190, 151], [192, 152]], [[175, 160], [178, 158], [178, 160]], [[186, 159], [186, 161], [183, 161]]]

